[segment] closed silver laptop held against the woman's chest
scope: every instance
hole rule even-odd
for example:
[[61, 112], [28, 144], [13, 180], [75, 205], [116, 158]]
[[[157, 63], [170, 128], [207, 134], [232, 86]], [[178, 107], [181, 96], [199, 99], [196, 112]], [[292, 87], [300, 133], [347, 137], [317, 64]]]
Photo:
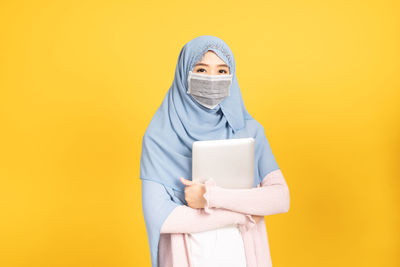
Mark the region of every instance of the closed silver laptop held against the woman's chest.
[[254, 138], [193, 142], [192, 180], [223, 188], [254, 187]]

